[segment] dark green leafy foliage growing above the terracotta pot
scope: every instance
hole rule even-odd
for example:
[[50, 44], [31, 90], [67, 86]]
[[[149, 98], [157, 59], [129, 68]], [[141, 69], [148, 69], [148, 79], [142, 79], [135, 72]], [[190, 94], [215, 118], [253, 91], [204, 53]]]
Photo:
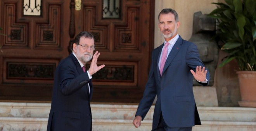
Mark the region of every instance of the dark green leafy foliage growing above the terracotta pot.
[[218, 10], [211, 12], [216, 18], [216, 38], [224, 42], [221, 50], [229, 55], [220, 67], [236, 59], [242, 71], [256, 71], [256, 1], [225, 0]]

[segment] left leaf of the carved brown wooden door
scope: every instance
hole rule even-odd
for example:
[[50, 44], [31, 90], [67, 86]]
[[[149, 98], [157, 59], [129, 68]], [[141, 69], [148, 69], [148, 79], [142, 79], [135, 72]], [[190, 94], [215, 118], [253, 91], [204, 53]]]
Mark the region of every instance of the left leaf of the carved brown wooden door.
[[55, 67], [68, 55], [69, 2], [43, 0], [40, 16], [23, 15], [22, 2], [0, 1], [0, 99], [50, 101]]

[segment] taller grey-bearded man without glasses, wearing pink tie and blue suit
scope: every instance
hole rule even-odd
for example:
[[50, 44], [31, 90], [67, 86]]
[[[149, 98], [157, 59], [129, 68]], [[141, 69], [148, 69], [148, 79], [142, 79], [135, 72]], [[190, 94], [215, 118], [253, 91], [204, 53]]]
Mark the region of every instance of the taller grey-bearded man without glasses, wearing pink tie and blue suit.
[[209, 72], [199, 58], [197, 46], [178, 35], [178, 14], [170, 8], [159, 15], [164, 43], [152, 51], [152, 64], [133, 124], [141, 125], [156, 95], [152, 131], [191, 131], [201, 124], [193, 94], [193, 76], [207, 86]]

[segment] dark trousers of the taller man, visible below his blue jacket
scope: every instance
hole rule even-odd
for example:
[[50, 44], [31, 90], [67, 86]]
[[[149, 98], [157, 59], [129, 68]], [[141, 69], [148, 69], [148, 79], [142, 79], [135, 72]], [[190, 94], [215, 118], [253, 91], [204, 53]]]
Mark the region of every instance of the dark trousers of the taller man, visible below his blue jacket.
[[186, 128], [170, 128], [167, 126], [167, 124], [164, 122], [164, 118], [162, 115], [160, 115], [159, 124], [156, 129], [152, 129], [152, 131], [192, 131], [192, 127], [186, 127]]

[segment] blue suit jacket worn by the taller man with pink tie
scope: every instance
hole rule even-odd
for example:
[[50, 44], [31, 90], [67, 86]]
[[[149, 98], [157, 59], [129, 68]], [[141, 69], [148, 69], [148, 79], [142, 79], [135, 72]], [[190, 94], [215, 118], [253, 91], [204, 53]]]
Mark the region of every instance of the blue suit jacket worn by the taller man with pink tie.
[[[166, 59], [161, 77], [158, 62], [163, 45], [152, 51], [149, 78], [136, 116], [141, 116], [143, 120], [157, 95], [153, 129], [158, 126], [161, 111], [165, 123], [170, 128], [201, 124], [193, 94], [194, 77], [190, 72], [190, 69], [195, 71], [196, 66], [204, 66], [199, 58], [197, 46], [179, 37]], [[206, 79], [208, 81], [210, 79], [209, 71]], [[208, 85], [208, 83], [200, 84]]]

